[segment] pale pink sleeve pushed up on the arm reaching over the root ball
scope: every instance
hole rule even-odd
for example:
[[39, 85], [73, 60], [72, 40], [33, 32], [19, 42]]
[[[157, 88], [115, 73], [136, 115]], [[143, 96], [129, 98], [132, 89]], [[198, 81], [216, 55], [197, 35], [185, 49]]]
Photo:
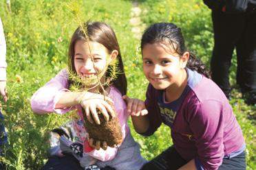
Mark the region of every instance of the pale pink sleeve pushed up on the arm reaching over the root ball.
[[71, 108], [55, 109], [55, 105], [63, 93], [69, 92], [67, 89], [67, 71], [61, 70], [52, 80], [47, 82], [43, 87], [34, 93], [30, 103], [34, 112], [45, 114], [49, 112], [56, 112], [63, 114], [68, 112]]

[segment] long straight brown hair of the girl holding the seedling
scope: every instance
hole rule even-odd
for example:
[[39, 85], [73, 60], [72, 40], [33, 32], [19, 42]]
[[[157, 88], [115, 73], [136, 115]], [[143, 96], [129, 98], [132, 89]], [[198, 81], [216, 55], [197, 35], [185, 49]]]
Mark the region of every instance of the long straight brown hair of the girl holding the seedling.
[[[87, 33], [87, 36], [85, 36], [83, 29]], [[71, 61], [70, 63], [70, 69], [76, 73], [76, 69], [74, 66], [74, 46], [78, 40], [85, 40], [92, 42], [98, 42], [101, 45], [104, 45], [106, 49], [108, 50], [109, 54], [113, 50], [118, 51], [118, 70], [121, 72], [117, 75], [117, 78], [111, 82], [114, 84], [116, 88], [122, 93], [122, 95], [126, 95], [127, 93], [127, 79], [125, 76], [125, 70], [124, 66], [122, 64], [122, 56], [120, 52], [120, 47], [118, 45], [118, 40], [116, 38], [116, 34], [114, 33], [114, 30], [103, 22], [87, 22], [84, 23], [83, 28], [78, 27], [76, 31], [74, 32], [71, 40], [70, 40], [70, 47], [68, 51], [68, 57]], [[106, 76], [109, 77], [109, 69], [107, 69]]]

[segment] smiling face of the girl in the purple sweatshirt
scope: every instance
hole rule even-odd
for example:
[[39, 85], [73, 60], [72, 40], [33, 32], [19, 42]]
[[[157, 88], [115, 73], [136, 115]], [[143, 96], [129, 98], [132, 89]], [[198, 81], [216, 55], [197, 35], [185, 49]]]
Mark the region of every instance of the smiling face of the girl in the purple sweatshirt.
[[158, 90], [181, 86], [189, 53], [182, 57], [162, 43], [146, 44], [142, 49], [143, 71]]

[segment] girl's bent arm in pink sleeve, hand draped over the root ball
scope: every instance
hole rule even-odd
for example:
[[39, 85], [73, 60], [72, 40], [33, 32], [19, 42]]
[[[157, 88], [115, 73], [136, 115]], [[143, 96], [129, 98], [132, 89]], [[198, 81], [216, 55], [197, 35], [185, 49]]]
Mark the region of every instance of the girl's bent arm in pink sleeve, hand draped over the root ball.
[[[71, 92], [68, 90], [67, 71], [63, 69], [45, 86], [39, 88], [31, 99], [32, 110], [39, 114], [56, 112], [63, 114], [73, 109], [72, 106], [81, 104], [85, 109], [87, 119], [93, 123], [100, 124], [96, 108], [103, 112], [106, 120], [109, 114], [114, 117], [114, 111], [104, 101], [103, 95], [89, 92]], [[108, 97], [107, 101], [112, 102]], [[109, 114], [107, 113], [109, 111]], [[92, 119], [93, 118], [93, 119]]]

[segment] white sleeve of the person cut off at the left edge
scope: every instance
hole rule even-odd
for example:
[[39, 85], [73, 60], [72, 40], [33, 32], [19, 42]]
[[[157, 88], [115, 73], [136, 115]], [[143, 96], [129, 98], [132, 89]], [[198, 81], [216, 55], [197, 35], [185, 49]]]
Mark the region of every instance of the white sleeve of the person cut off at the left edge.
[[6, 39], [4, 38], [3, 25], [0, 19], [0, 81], [6, 81]]

